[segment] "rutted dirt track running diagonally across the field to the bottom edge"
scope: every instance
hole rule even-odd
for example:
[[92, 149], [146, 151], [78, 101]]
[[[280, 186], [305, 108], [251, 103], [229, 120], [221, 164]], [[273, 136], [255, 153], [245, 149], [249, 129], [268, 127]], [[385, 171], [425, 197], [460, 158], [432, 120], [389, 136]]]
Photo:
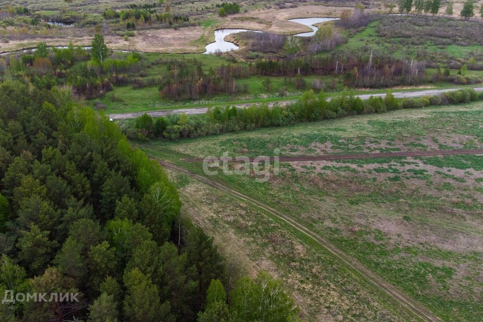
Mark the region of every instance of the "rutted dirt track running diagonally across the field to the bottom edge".
[[[480, 150], [483, 153], [483, 150]], [[319, 235], [318, 233], [308, 229], [295, 219], [291, 218], [288, 215], [285, 215], [284, 213], [258, 201], [253, 198], [250, 198], [249, 196], [246, 196], [236, 190], [233, 190], [222, 183], [219, 183], [217, 181], [208, 179], [206, 177], [200, 176], [196, 173], [193, 173], [191, 171], [188, 171], [186, 169], [180, 168], [176, 165], [173, 165], [169, 162], [165, 162], [162, 160], [158, 160], [159, 164], [162, 165], [165, 168], [172, 169], [177, 172], [181, 172], [183, 174], [186, 174], [190, 176], [193, 179], [196, 179], [204, 184], [207, 184], [209, 186], [215, 187], [221, 191], [224, 191], [226, 193], [229, 193], [241, 200], [244, 200], [252, 205], [255, 205], [256, 207], [268, 212], [272, 216], [278, 218], [279, 220], [282, 220], [286, 222], [288, 225], [290, 225], [292, 228], [295, 230], [303, 233], [304, 235], [308, 236], [310, 239], [315, 241], [319, 246], [324, 248], [326, 251], [331, 253], [335, 258], [337, 258], [339, 261], [341, 261], [344, 265], [349, 267], [350, 269], [353, 270], [353, 272], [356, 275], [359, 275], [366, 280], [368, 280], [374, 288], [383, 291], [386, 295], [388, 295], [395, 303], [399, 304], [401, 307], [406, 309], [409, 313], [413, 314], [416, 316], [418, 319], [426, 322], [442, 322], [443, 320], [434, 315], [431, 310], [426, 308], [424, 305], [420, 304], [418, 301], [415, 299], [411, 298], [408, 296], [406, 293], [403, 291], [400, 291], [398, 288], [396, 288], [394, 285], [391, 283], [385, 281], [382, 279], [380, 276], [377, 274], [373, 273], [371, 270], [369, 270], [367, 267], [362, 265], [358, 260], [352, 258], [351, 256], [347, 255], [343, 251], [341, 251], [339, 248], [337, 248], [335, 245], [333, 245], [328, 239], [324, 238], [323, 236]]]

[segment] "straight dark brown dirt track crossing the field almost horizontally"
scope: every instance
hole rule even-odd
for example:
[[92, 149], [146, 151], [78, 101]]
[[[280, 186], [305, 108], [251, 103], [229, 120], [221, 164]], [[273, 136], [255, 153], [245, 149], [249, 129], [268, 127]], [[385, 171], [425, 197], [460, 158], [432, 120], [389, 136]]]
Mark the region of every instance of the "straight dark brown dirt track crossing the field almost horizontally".
[[[462, 155], [462, 154], [483, 154], [483, 149], [454, 149], [454, 150], [431, 150], [431, 151], [404, 151], [404, 152], [378, 152], [364, 154], [326, 154], [326, 155], [306, 155], [306, 156], [279, 156], [280, 162], [305, 162], [305, 161], [331, 161], [331, 160], [352, 160], [368, 159], [375, 157], [404, 157], [404, 156], [439, 156], [439, 155]], [[223, 158], [221, 158], [223, 160]], [[226, 158], [225, 158], [226, 159]], [[184, 159], [188, 162], [202, 162], [203, 159]], [[227, 158], [226, 160], [234, 160]], [[250, 157], [250, 162], [255, 162], [255, 157]], [[270, 156], [271, 161], [275, 157]], [[244, 162], [244, 161], [240, 161]]]

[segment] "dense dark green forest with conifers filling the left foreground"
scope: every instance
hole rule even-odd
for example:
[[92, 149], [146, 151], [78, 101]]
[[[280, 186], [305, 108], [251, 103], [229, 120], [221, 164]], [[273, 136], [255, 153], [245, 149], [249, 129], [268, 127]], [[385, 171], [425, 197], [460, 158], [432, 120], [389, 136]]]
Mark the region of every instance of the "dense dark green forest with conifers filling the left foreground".
[[0, 320], [295, 318], [271, 276], [228, 283], [236, 265], [180, 218], [164, 171], [106, 116], [18, 81], [0, 84], [0, 107]]

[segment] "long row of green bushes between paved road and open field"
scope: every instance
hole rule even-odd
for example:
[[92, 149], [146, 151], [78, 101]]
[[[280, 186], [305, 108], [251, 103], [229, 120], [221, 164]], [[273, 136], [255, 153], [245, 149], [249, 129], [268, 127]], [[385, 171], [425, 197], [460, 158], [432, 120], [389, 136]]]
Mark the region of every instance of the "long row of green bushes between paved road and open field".
[[147, 141], [149, 138], [194, 138], [210, 134], [252, 130], [260, 127], [284, 126], [299, 122], [312, 122], [334, 119], [347, 115], [383, 113], [396, 109], [423, 108], [430, 105], [458, 104], [483, 100], [483, 93], [464, 89], [441, 96], [420, 99], [396, 100], [389, 92], [384, 99], [370, 97], [363, 101], [351, 93], [343, 92], [327, 101], [324, 92], [315, 95], [312, 90], [305, 92], [301, 99], [288, 106], [267, 104], [249, 108], [211, 108], [206, 116], [174, 114], [169, 117], [152, 119], [144, 114], [134, 121], [122, 121], [121, 130], [130, 139]]

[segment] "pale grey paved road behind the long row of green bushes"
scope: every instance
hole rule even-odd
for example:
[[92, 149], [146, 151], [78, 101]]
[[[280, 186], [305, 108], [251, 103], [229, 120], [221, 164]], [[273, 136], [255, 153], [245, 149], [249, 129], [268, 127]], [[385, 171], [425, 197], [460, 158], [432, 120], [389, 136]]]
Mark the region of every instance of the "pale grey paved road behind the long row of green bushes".
[[[483, 87], [475, 87], [473, 88], [476, 92], [483, 92]], [[458, 89], [443, 89], [443, 90], [424, 90], [424, 91], [413, 91], [413, 92], [395, 92], [392, 93], [396, 98], [398, 99], [403, 99], [403, 98], [416, 98], [416, 97], [423, 97], [423, 96], [432, 96], [432, 95], [438, 95], [441, 93], [445, 92], [451, 92], [451, 91], [456, 91]], [[369, 99], [369, 97], [374, 96], [374, 97], [385, 97], [385, 93], [381, 94], [363, 94], [363, 95], [356, 95], [357, 97], [360, 97], [363, 100]], [[331, 98], [329, 97], [328, 100]], [[276, 103], [279, 105], [287, 105], [294, 103], [296, 101], [291, 100], [291, 101], [279, 101], [279, 102], [271, 102], [269, 103], [269, 106], [273, 106]], [[257, 103], [248, 103], [248, 104], [236, 104], [236, 105], [230, 105], [229, 102], [226, 103], [226, 105], [230, 106], [236, 106], [238, 108], [247, 108], [253, 105], [256, 105]], [[148, 111], [148, 112], [140, 112], [140, 113], [114, 113], [110, 114], [110, 118], [113, 120], [122, 120], [122, 119], [133, 119], [138, 116], [141, 116], [144, 113], [149, 114], [152, 117], [159, 117], [159, 116], [166, 116], [174, 113], [185, 113], [187, 115], [196, 115], [196, 114], [205, 114], [206, 111], [208, 110], [207, 107], [192, 107], [192, 108], [185, 108], [185, 109], [174, 109], [174, 110], [163, 110], [163, 111]]]

